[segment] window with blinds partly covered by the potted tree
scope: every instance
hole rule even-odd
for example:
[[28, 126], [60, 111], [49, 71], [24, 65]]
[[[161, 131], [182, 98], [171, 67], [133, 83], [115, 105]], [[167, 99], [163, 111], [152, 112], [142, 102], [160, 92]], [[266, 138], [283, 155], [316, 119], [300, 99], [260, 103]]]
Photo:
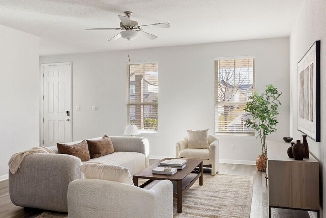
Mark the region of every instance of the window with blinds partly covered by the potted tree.
[[254, 57], [215, 60], [215, 133], [254, 135], [244, 126], [251, 118], [244, 107], [255, 91], [254, 63]]

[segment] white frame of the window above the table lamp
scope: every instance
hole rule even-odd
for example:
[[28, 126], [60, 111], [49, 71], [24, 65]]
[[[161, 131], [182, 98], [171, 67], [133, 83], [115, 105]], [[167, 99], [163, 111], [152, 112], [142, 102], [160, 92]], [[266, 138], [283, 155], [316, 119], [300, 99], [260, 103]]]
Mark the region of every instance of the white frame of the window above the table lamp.
[[[136, 65], [136, 64], [157, 64], [157, 72], [158, 72], [158, 62], [157, 61], [146, 61], [146, 62], [126, 62], [126, 71], [127, 71], [127, 84], [126, 84], [126, 90], [127, 90], [127, 102], [126, 102], [126, 126], [128, 126], [130, 124], [130, 112], [129, 112], [129, 105], [133, 105], [133, 104], [130, 104], [130, 95], [129, 95], [129, 90], [130, 89], [130, 78], [129, 78], [129, 66], [130, 65]], [[157, 75], [157, 80], [159, 81], [159, 76]], [[159, 89], [159, 86], [158, 86], [158, 89]], [[158, 108], [158, 95], [159, 95], [159, 92], [157, 94], [157, 108]], [[143, 105], [146, 105], [143, 104]], [[151, 104], [153, 105], [153, 104]], [[157, 111], [157, 121], [159, 121], [159, 115], [158, 115], [158, 111]], [[139, 129], [139, 131], [141, 132], [142, 135], [158, 135], [158, 130], [159, 130], [159, 122], [158, 122], [158, 126], [157, 126], [157, 130], [142, 130], [142, 129]]]

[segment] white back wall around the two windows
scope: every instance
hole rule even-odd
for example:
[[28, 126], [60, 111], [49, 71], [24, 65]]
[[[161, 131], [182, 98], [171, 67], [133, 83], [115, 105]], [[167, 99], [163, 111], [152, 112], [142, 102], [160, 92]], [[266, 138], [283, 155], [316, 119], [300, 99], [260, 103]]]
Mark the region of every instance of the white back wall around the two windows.
[[[110, 42], [108, 42], [110, 43]], [[126, 41], [127, 43], [127, 41]], [[135, 41], [131, 41], [130, 45]], [[278, 133], [289, 135], [289, 38], [248, 40], [131, 50], [131, 61], [158, 61], [159, 135], [144, 135], [150, 155], [174, 156], [174, 144], [187, 129], [214, 132], [214, 59], [255, 55], [256, 90], [274, 84], [283, 92]], [[127, 51], [40, 57], [40, 63], [72, 61], [73, 140], [122, 135], [126, 124]], [[80, 111], [75, 107], [81, 106]], [[91, 106], [97, 111], [91, 111]], [[221, 138], [220, 158], [254, 161], [259, 139]], [[236, 150], [231, 150], [231, 144]]]

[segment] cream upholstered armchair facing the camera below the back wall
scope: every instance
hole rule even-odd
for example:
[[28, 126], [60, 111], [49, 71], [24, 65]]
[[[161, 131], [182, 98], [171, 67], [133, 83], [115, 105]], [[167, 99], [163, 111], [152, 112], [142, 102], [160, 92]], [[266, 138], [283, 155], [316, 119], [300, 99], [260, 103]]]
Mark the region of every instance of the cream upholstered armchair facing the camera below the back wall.
[[188, 143], [188, 136], [176, 143], [175, 157], [202, 159], [204, 167], [211, 167], [212, 175], [216, 175], [216, 173], [219, 171], [219, 140], [213, 135], [208, 135], [208, 149], [188, 148]]

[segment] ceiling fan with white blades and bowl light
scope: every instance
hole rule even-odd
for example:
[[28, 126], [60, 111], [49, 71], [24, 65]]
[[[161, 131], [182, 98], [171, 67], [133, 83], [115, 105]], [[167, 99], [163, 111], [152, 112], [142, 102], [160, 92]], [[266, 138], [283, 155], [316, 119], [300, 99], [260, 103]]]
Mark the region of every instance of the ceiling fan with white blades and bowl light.
[[138, 22], [134, 21], [134, 20], [130, 20], [130, 16], [132, 15], [131, 11], [125, 11], [124, 12], [126, 16], [121, 16], [118, 15], [118, 17], [120, 18], [121, 22], [120, 22], [120, 27], [118, 28], [88, 28], [86, 30], [124, 30], [120, 33], [118, 33], [117, 35], [115, 35], [114, 37], [112, 37], [110, 40], [117, 40], [120, 37], [127, 39], [128, 41], [137, 38], [138, 34], [145, 36], [149, 39], [156, 39], [157, 36], [144, 32], [142, 31], [143, 28], [166, 28], [166, 27], [170, 27], [169, 23], [164, 22], [164, 23], [153, 23], [153, 24], [146, 24], [146, 25], [138, 25]]

